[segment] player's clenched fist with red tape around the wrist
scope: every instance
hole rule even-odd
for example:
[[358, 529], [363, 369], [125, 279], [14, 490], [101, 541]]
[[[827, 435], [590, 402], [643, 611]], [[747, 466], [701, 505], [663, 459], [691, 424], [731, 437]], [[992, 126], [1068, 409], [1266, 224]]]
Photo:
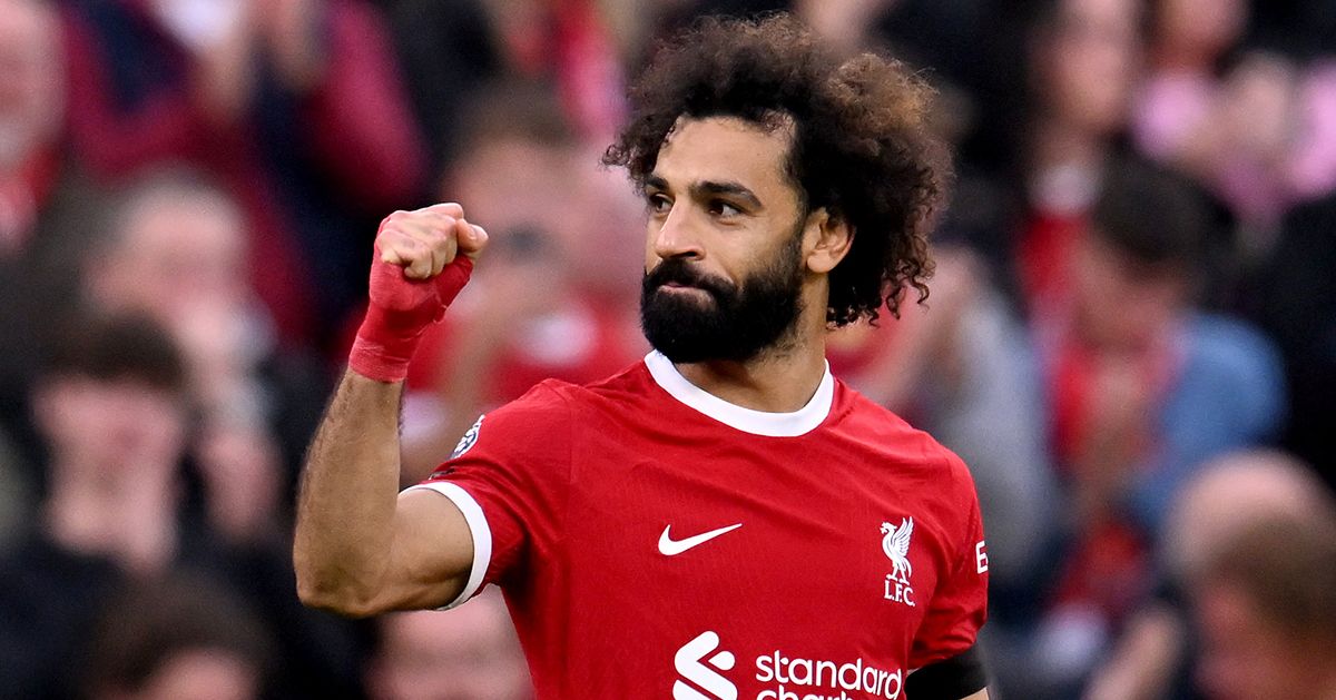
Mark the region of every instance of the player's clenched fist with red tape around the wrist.
[[381, 222], [371, 260], [370, 306], [349, 367], [382, 382], [402, 381], [422, 331], [445, 314], [488, 244], [460, 204], [395, 211]]

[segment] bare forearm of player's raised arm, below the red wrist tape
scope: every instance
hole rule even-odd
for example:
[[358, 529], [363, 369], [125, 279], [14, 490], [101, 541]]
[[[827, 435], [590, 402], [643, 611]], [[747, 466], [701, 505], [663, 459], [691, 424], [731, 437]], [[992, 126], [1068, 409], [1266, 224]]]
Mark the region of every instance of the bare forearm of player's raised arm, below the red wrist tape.
[[302, 601], [363, 615], [390, 566], [402, 382], [345, 373], [298, 497], [293, 560]]

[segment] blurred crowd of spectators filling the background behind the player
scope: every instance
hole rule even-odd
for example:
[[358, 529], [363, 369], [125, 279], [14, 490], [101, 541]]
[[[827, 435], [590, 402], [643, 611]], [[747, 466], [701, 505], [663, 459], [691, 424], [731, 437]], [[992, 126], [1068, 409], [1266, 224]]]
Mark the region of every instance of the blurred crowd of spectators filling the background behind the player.
[[993, 697], [1336, 697], [1336, 0], [0, 0], [0, 697], [528, 697], [494, 594], [295, 597], [377, 222], [494, 242], [411, 484], [647, 351], [627, 76], [776, 9], [938, 90], [931, 297], [830, 361], [974, 473]]

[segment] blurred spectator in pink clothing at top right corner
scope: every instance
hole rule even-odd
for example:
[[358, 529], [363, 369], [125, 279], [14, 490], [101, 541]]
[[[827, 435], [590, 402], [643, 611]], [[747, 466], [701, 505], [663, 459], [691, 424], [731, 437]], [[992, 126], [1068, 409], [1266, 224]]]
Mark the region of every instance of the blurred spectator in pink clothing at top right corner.
[[1248, 224], [1242, 256], [1269, 246], [1288, 207], [1336, 188], [1332, 68], [1244, 49], [1248, 17], [1244, 0], [1156, 3], [1133, 120], [1144, 154], [1209, 186]]

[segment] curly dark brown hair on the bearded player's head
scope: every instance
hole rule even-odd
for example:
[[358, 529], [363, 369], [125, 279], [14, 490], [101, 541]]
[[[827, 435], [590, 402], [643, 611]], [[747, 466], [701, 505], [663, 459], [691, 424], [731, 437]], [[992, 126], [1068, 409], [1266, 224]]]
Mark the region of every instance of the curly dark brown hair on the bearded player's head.
[[603, 156], [644, 186], [679, 118], [733, 116], [792, 124], [788, 175], [806, 212], [854, 231], [830, 274], [827, 322], [899, 317], [904, 290], [927, 298], [927, 234], [950, 178], [927, 126], [933, 90], [902, 63], [840, 60], [786, 13], [705, 17], [656, 51], [631, 85], [631, 119]]

